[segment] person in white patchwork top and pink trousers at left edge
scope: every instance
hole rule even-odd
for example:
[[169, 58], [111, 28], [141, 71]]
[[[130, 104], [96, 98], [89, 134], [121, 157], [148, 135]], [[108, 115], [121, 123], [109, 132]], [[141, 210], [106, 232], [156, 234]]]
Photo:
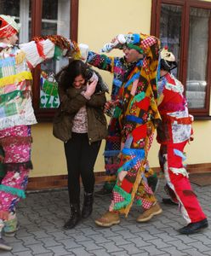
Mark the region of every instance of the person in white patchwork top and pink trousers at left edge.
[[[0, 234], [17, 230], [15, 206], [25, 198], [31, 165], [31, 125], [37, 123], [31, 104], [31, 68], [60, 55], [78, 55], [74, 42], [61, 36], [34, 38], [16, 44], [20, 24], [0, 15], [0, 146], [3, 176], [0, 184]], [[11, 250], [0, 238], [0, 248]]]

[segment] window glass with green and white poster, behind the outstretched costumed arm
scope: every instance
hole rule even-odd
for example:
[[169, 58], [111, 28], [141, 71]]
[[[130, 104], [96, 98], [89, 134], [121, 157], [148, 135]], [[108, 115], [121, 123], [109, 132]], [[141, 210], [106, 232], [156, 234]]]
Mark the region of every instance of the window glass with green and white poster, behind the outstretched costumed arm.
[[[70, 1], [43, 1], [42, 35], [61, 35], [70, 38]], [[40, 108], [58, 108], [58, 85], [54, 74], [68, 64], [66, 58], [60, 61], [45, 61], [41, 65]]]

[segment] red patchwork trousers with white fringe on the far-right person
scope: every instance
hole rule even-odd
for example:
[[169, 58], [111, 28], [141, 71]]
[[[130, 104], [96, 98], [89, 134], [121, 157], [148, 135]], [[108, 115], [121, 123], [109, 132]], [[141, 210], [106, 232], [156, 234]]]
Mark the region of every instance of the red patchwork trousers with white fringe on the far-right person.
[[183, 143], [161, 144], [159, 160], [167, 181], [168, 194], [172, 197], [173, 201], [179, 201], [182, 216], [189, 224], [201, 221], [206, 216], [202, 212], [197, 195], [191, 188], [188, 174], [183, 165], [186, 143], [187, 141]]

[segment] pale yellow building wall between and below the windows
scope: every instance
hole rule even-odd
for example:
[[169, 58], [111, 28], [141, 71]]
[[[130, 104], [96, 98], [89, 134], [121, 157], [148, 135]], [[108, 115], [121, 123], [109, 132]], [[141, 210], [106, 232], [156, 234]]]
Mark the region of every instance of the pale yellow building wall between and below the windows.
[[[151, 1], [150, 0], [79, 0], [78, 43], [89, 45], [89, 49], [99, 51], [118, 33], [150, 33]], [[112, 55], [121, 55], [113, 51]], [[110, 73], [101, 72], [107, 84], [111, 84]], [[211, 121], [196, 121], [194, 124], [195, 142], [187, 146], [187, 164], [211, 162]], [[52, 135], [51, 124], [32, 126], [32, 161], [34, 171], [31, 177], [66, 174], [66, 160], [63, 143]], [[95, 172], [104, 171], [103, 148]], [[151, 166], [158, 166], [158, 145], [153, 143], [149, 160]]]

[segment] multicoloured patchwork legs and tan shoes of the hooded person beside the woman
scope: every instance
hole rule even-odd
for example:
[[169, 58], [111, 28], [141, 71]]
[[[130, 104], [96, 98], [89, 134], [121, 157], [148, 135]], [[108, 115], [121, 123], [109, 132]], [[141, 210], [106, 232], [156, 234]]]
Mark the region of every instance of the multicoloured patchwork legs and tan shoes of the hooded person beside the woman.
[[[149, 130], [149, 134], [150, 131], [153, 132], [154, 130], [150, 123], [147, 125], [145, 125], [145, 129]], [[139, 199], [141, 203], [143, 200], [145, 201], [144, 204], [142, 203], [145, 208], [152, 208], [152, 212], [150, 212], [151, 217], [162, 212], [162, 209], [157, 204], [157, 200], [146, 181], [145, 186], [142, 187], [144, 191], [140, 191], [141, 180], [142, 178], [145, 178], [145, 161], [149, 148], [148, 143], [149, 137], [147, 136], [141, 138], [141, 143], [136, 143], [134, 137], [128, 135], [128, 138], [123, 145], [120, 163], [121, 167], [118, 170], [118, 175], [120, 172], [123, 173], [123, 178], [119, 180], [117, 177], [117, 183], [112, 192], [113, 196], [109, 212], [106, 212], [101, 218], [96, 219], [96, 224], [106, 227], [111, 226], [112, 224], [118, 224], [120, 219], [117, 213], [124, 213], [126, 216], [128, 215], [134, 199], [138, 199], [137, 192], [140, 196]], [[146, 186], [149, 189], [148, 191], [146, 190]], [[144, 198], [142, 195], [144, 195]], [[154, 207], [155, 205], [157, 206]]]

